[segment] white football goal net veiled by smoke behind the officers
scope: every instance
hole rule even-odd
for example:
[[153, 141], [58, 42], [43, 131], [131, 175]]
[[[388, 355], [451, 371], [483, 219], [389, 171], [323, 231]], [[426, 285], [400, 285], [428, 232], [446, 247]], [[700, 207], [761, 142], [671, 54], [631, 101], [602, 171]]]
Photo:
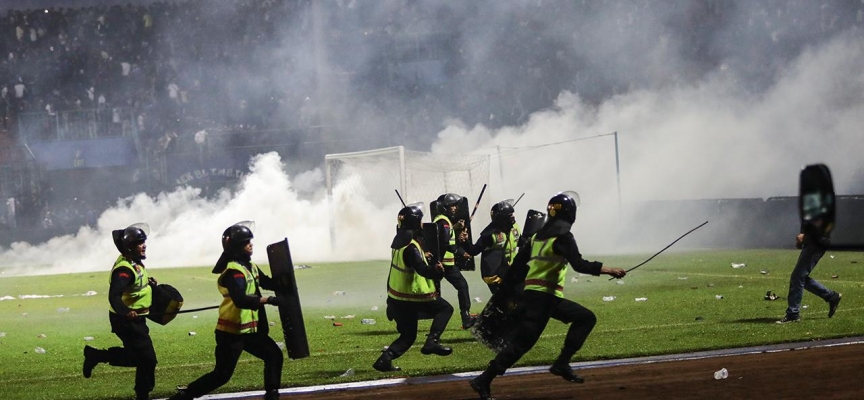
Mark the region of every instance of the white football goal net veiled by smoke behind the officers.
[[[357, 223], [358, 213], [378, 211], [386, 218], [386, 225], [393, 226], [402, 207], [394, 190], [399, 190], [406, 204], [423, 202], [424, 222], [430, 222], [429, 203], [439, 195], [467, 196], [473, 207], [483, 185], [489, 181], [489, 155], [434, 154], [396, 146], [328, 154], [324, 160], [330, 240], [334, 246], [341, 241], [337, 240], [336, 232], [346, 228], [340, 225]], [[482, 200], [475, 224], [482, 223], [484, 217], [488, 220], [491, 200], [488, 196]]]

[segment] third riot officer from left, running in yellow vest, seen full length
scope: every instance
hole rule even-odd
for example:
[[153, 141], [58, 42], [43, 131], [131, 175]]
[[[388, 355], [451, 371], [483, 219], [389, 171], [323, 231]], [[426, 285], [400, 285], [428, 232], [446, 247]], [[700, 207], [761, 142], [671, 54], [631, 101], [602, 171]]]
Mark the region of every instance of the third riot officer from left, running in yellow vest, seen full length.
[[438, 296], [435, 279], [440, 279], [444, 267], [429, 265], [423, 248], [421, 203], [405, 206], [399, 211], [396, 236], [393, 237], [390, 273], [387, 276], [387, 318], [396, 321], [399, 337], [381, 352], [372, 367], [381, 372], [399, 371], [393, 360], [404, 354], [417, 340], [417, 321], [421, 315], [431, 315], [432, 325], [423, 354], [447, 356], [453, 353], [439, 343], [441, 333], [453, 316], [453, 306]]

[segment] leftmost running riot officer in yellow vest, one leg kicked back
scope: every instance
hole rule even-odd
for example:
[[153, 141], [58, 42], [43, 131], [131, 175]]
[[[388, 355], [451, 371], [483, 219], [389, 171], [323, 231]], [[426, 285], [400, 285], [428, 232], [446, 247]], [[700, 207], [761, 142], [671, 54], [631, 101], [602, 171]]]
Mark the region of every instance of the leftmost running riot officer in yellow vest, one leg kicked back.
[[108, 320], [111, 332], [120, 338], [123, 347], [101, 350], [84, 346], [84, 377], [89, 378], [99, 363], [135, 367], [137, 400], [149, 399], [156, 385], [156, 350], [145, 318], [153, 301], [150, 285], [156, 284], [143, 262], [147, 258], [149, 231], [147, 224], [137, 223], [111, 232], [120, 255], [111, 269]]

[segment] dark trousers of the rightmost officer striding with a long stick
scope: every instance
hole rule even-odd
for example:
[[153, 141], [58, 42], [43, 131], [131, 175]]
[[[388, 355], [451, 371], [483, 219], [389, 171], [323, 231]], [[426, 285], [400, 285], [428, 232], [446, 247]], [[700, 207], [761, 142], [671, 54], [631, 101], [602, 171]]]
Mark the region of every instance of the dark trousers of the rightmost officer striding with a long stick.
[[517, 328], [504, 349], [495, 357], [495, 364], [501, 369], [499, 373], [504, 373], [534, 347], [550, 318], [570, 324], [556, 363], [569, 363], [597, 323], [597, 317], [591, 310], [574, 301], [536, 290], [526, 290], [522, 294], [519, 308], [521, 315]]

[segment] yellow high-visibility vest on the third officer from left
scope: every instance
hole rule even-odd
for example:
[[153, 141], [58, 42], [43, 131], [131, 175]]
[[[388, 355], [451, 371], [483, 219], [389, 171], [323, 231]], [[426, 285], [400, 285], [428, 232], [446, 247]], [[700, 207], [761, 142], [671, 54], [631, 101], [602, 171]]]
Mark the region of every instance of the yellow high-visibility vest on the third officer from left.
[[[411, 240], [411, 243], [398, 249], [392, 249], [392, 258], [390, 259], [390, 275], [387, 277], [387, 296], [396, 300], [402, 301], [434, 301], [435, 281], [425, 278], [405, 265], [405, 260], [402, 257], [405, 254], [405, 249], [410, 245], [417, 246], [420, 254], [423, 254], [423, 248], [416, 240]], [[423, 258], [423, 263], [426, 262], [426, 257]]]

